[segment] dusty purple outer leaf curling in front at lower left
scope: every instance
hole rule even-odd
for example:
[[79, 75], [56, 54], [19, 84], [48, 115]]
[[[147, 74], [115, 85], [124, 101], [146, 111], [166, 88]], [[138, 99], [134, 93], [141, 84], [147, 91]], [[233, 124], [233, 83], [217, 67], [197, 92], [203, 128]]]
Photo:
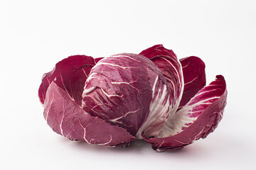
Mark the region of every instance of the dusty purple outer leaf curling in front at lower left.
[[70, 140], [114, 147], [127, 146], [136, 139], [127, 130], [87, 115], [55, 81], [48, 87], [44, 108], [50, 128]]

